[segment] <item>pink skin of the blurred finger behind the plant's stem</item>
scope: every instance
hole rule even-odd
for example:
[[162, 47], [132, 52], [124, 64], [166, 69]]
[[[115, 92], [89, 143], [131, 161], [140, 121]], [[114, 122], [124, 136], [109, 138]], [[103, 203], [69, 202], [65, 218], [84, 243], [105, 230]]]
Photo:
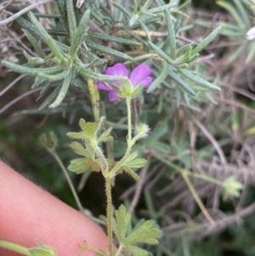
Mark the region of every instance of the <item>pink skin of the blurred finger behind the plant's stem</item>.
[[[36, 247], [36, 240], [75, 256], [84, 242], [106, 250], [107, 237], [99, 225], [60, 202], [47, 191], [0, 161], [0, 240]], [[14, 256], [0, 248], [0, 255]], [[92, 256], [88, 250], [82, 256]]]

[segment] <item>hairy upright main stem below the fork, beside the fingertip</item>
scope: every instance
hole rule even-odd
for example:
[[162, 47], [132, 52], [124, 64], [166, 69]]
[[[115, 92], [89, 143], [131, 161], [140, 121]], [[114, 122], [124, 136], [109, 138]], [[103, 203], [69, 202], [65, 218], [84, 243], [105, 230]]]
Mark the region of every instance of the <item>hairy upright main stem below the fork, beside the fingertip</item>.
[[105, 175], [105, 191], [107, 201], [107, 235], [108, 235], [108, 255], [112, 256], [112, 223], [111, 223], [111, 211], [112, 211], [112, 200], [111, 200], [111, 175], [108, 173]]

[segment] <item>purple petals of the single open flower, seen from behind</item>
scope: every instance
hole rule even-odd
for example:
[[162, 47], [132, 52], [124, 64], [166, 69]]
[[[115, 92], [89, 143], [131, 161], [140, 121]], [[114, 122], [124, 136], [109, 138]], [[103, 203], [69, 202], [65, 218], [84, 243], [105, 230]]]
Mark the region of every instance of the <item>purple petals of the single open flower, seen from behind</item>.
[[[105, 75], [127, 77], [132, 88], [135, 88], [141, 83], [144, 84], [144, 88], [148, 87], [150, 85], [150, 82], [152, 81], [152, 78], [149, 77], [151, 73], [152, 73], [152, 70], [148, 65], [138, 65], [128, 77], [127, 68], [125, 65], [121, 63], [117, 63], [116, 65], [113, 65], [112, 67], [108, 67], [105, 70]], [[117, 86], [119, 88], [122, 87], [121, 81], [116, 81], [111, 83], [112, 85]], [[111, 88], [111, 84], [110, 86], [105, 86], [103, 82], [99, 82], [97, 86], [99, 90], [109, 91], [110, 101], [122, 101], [119, 98], [119, 94], [116, 92], [116, 90], [114, 88]]]

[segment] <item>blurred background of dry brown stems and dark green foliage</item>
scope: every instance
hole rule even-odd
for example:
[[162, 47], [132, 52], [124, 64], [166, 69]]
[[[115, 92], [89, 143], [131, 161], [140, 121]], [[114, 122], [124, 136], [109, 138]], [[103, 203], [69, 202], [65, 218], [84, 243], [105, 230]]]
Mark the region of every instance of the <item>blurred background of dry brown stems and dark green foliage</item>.
[[[0, 4], [0, 20], [31, 4], [26, 0], [11, 2]], [[156, 220], [163, 235], [159, 246], [149, 248], [154, 255], [254, 255], [255, 42], [246, 40], [246, 32], [253, 26], [255, 5], [244, 0], [194, 1], [181, 10], [186, 15], [181, 20], [184, 29], [178, 37], [186, 43], [200, 43], [212, 29], [222, 26], [218, 37], [190, 64], [192, 71], [217, 84], [221, 91], [201, 90], [195, 98], [190, 98], [164, 84], [134, 101], [134, 117], [151, 128], [149, 139], [138, 145], [149, 164], [139, 170], [142, 178], [139, 185], [126, 174], [117, 177], [114, 204], [118, 207], [124, 202], [139, 218]], [[50, 3], [39, 7], [37, 13], [51, 14]], [[177, 17], [176, 13], [173, 15]], [[42, 22], [45, 26], [52, 23], [48, 19]], [[158, 26], [155, 31], [166, 29]], [[155, 40], [161, 43], [164, 38]], [[0, 26], [0, 58], [24, 64], [24, 50], [35, 56], [35, 49], [24, 37], [20, 25], [14, 21]], [[120, 50], [130, 53], [129, 48]], [[107, 60], [108, 65], [116, 62], [110, 55], [96, 54]], [[153, 70], [158, 77], [160, 68], [153, 66]], [[88, 89], [71, 87], [58, 108], [38, 112], [50, 90], [44, 95], [38, 89], [31, 90], [34, 78], [8, 73], [3, 65], [0, 76], [1, 158], [76, 207], [65, 177], [38, 137], [54, 130], [59, 138], [59, 157], [68, 166], [74, 155], [66, 133], [79, 130], [80, 117], [93, 118]], [[170, 79], [167, 81], [171, 83]], [[194, 82], [190, 84], [195, 87]], [[113, 106], [102, 93], [101, 111], [114, 125], [113, 135], [122, 138], [114, 147], [115, 156], [120, 157], [127, 129], [122, 118], [125, 105]], [[191, 175], [190, 181], [206, 207], [200, 208], [184, 176], [166, 161], [192, 174], [222, 182], [235, 177], [243, 185], [241, 195], [224, 198], [222, 187]], [[94, 216], [105, 214], [104, 181], [100, 174], [70, 175], [83, 206]], [[133, 222], [136, 221], [134, 218]]]

